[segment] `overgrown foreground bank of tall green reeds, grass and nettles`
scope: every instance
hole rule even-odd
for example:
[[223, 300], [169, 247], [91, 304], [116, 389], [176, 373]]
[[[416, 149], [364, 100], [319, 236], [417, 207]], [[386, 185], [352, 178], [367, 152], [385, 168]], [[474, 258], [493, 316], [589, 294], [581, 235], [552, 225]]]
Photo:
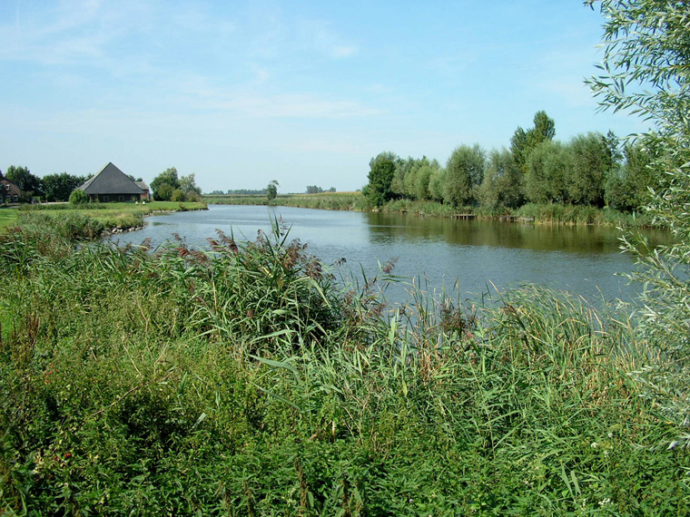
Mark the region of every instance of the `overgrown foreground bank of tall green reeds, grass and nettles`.
[[391, 313], [385, 272], [341, 287], [280, 234], [212, 256], [58, 234], [0, 240], [8, 514], [690, 512], [625, 314], [541, 288]]

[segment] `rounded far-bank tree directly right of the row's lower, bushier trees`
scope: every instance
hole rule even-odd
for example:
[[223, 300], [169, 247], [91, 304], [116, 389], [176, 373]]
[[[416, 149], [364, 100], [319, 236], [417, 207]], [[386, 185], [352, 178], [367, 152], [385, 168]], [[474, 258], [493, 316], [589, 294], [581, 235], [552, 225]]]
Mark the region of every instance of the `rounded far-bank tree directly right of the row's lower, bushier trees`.
[[484, 180], [485, 154], [478, 143], [460, 145], [450, 155], [446, 165], [444, 200], [456, 208], [474, 202], [474, 187]]

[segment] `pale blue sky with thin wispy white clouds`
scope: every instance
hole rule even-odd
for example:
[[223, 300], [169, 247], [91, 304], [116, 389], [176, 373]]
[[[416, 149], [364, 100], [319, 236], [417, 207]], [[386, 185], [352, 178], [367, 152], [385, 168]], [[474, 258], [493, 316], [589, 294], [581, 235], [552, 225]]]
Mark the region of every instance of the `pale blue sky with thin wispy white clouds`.
[[509, 147], [540, 110], [560, 141], [643, 132], [584, 83], [604, 22], [580, 0], [0, 0], [0, 170], [343, 191], [382, 151]]

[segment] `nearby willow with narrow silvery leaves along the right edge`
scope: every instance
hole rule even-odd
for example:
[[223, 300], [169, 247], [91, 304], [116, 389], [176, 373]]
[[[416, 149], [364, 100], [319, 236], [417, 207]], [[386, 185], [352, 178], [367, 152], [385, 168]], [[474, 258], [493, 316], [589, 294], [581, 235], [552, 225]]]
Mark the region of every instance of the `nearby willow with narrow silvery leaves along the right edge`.
[[[669, 246], [637, 255], [633, 278], [646, 286], [639, 313], [643, 337], [660, 361], [637, 379], [675, 420], [690, 444], [690, 9], [684, 1], [601, 0], [606, 16], [600, 74], [588, 82], [602, 109], [627, 111], [651, 122], [646, 135], [657, 150], [649, 167], [659, 187], [647, 209], [673, 236]], [[594, 8], [594, 0], [586, 0]], [[627, 249], [647, 248], [629, 236]]]

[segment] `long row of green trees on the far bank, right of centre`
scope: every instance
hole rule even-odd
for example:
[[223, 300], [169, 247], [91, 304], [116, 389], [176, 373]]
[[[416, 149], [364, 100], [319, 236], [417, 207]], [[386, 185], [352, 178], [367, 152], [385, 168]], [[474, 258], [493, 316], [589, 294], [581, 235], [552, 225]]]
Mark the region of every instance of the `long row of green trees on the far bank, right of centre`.
[[435, 200], [451, 206], [517, 209], [527, 202], [569, 203], [639, 210], [657, 187], [649, 163], [652, 141], [621, 143], [612, 132], [555, 141], [556, 124], [537, 112], [534, 126], [518, 127], [510, 149], [458, 146], [445, 168], [439, 161], [381, 152], [370, 161], [362, 190], [374, 206], [389, 200]]

